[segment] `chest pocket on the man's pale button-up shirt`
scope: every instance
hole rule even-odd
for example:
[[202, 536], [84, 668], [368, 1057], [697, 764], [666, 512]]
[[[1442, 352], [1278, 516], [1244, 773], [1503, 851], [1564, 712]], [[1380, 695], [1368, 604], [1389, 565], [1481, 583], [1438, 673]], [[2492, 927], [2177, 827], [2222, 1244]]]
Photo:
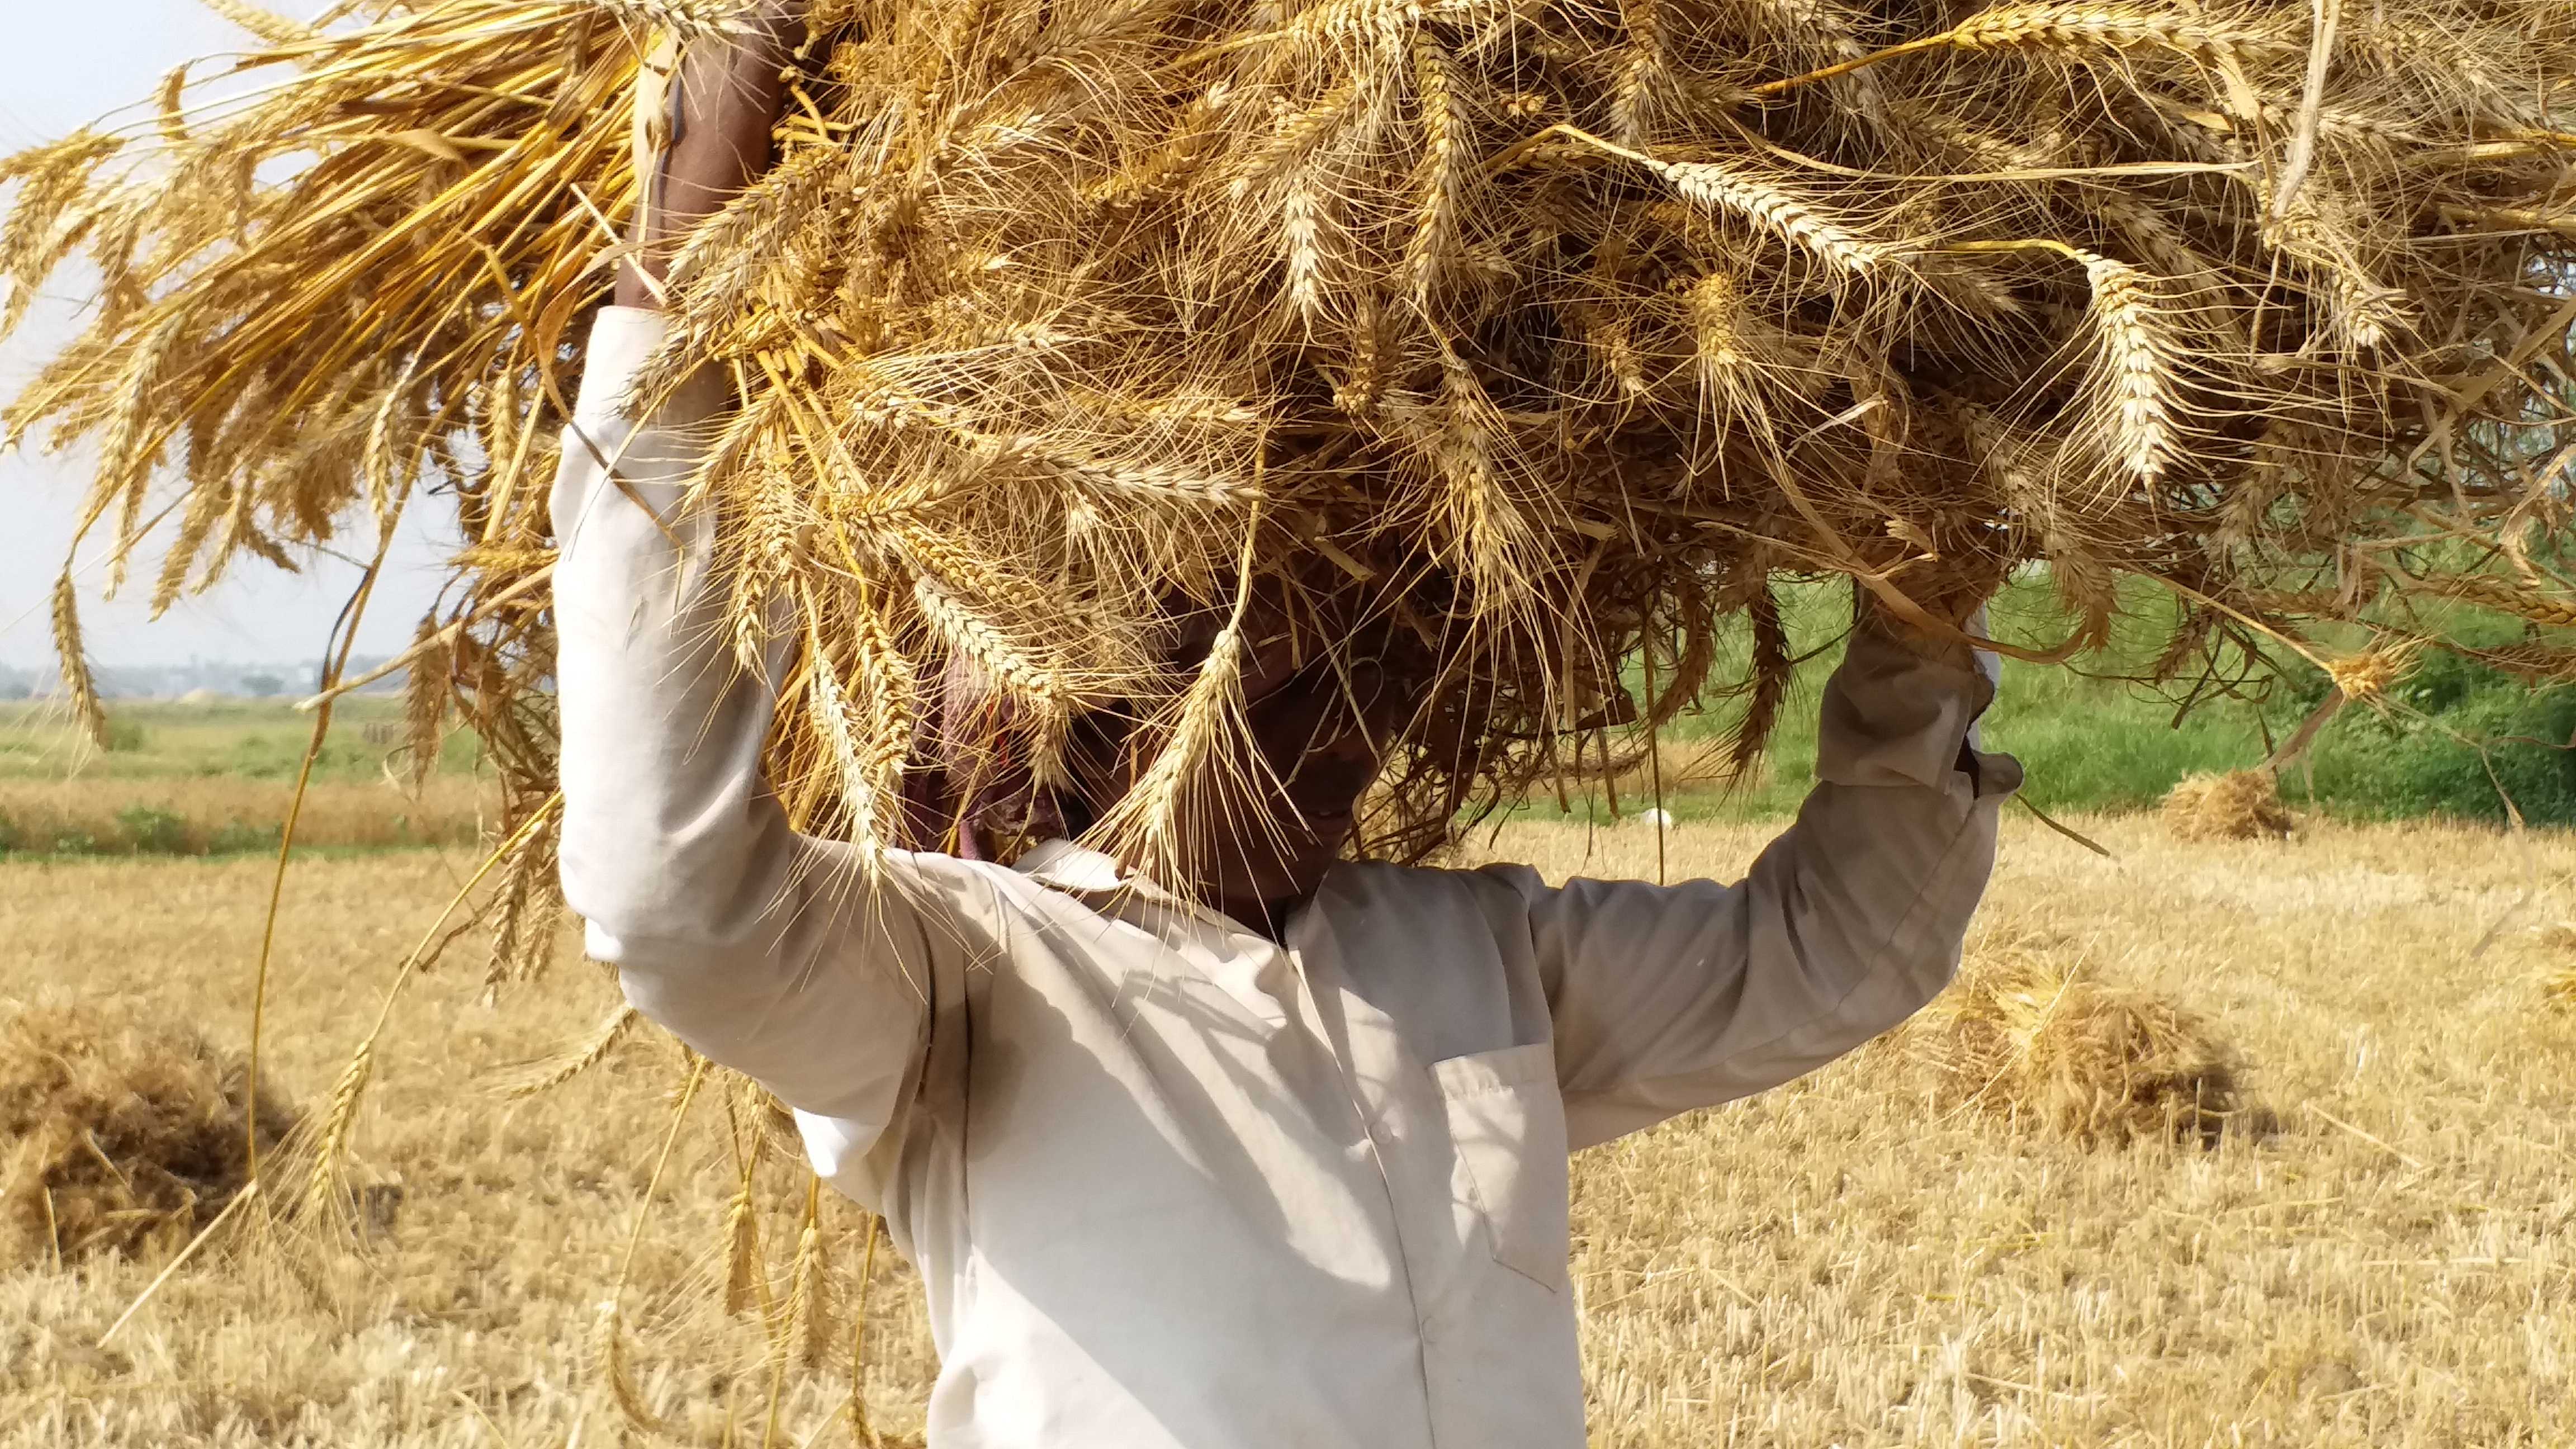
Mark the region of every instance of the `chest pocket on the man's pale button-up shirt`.
[[1458, 1150], [1455, 1189], [1494, 1240], [1494, 1261], [1548, 1292], [1566, 1287], [1566, 1101], [1556, 1047], [1504, 1047], [1432, 1062]]

